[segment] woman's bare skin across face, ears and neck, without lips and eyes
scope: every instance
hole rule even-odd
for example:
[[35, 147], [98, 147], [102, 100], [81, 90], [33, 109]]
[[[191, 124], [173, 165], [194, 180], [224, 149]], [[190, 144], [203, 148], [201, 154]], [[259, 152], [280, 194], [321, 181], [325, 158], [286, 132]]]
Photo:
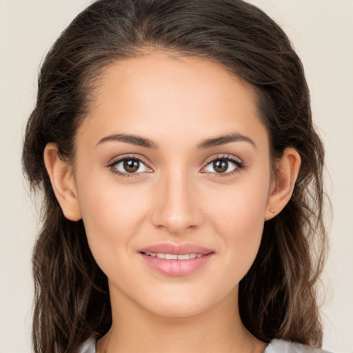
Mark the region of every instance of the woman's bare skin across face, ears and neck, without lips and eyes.
[[[210, 61], [154, 52], [114, 63], [100, 82], [77, 132], [73, 165], [53, 143], [45, 150], [61, 208], [68, 219], [83, 219], [108, 276], [113, 325], [97, 352], [263, 352], [266, 344], [241, 323], [238, 285], [264, 221], [290, 199], [299, 155], [285, 150], [272, 179], [252, 89]], [[199, 148], [231, 132], [246, 139]], [[158, 148], [102, 141], [112, 134], [138, 135]], [[122, 163], [112, 164], [127, 154], [144, 164], [122, 177]], [[210, 162], [225, 156], [237, 163], [216, 172]], [[139, 254], [186, 242], [214, 251], [188, 276], [156, 272]]]

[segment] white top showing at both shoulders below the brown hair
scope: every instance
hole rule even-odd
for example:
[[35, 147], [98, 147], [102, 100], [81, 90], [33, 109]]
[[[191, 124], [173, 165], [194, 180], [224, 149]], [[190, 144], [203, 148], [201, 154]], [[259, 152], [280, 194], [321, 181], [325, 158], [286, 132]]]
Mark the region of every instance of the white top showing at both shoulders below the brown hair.
[[[79, 353], [96, 353], [96, 339], [90, 337], [79, 350]], [[263, 353], [330, 353], [327, 350], [315, 349], [301, 345], [299, 343], [292, 343], [273, 339]]]

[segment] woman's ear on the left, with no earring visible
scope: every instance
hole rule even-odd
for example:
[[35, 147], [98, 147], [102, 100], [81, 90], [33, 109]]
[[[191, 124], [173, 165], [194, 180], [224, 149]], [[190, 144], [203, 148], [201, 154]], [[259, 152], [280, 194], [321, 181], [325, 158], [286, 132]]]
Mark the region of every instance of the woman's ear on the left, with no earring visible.
[[79, 221], [81, 211], [72, 166], [59, 157], [56, 143], [48, 143], [44, 148], [44, 163], [63, 214], [70, 221]]

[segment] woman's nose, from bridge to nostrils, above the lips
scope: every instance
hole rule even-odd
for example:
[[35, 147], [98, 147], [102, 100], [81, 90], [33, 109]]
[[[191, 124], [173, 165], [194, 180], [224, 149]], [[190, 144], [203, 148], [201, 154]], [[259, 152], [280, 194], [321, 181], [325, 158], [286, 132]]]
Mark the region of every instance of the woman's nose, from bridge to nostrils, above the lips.
[[152, 213], [157, 228], [178, 235], [201, 225], [201, 200], [187, 175], [179, 172], [165, 177], [157, 189]]

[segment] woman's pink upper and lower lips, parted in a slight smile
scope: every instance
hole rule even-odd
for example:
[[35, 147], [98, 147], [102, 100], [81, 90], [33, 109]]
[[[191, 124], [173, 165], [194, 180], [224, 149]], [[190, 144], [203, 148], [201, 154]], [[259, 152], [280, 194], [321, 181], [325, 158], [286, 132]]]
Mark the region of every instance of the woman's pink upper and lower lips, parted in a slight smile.
[[[161, 252], [164, 254], [202, 254], [201, 257], [189, 260], [165, 260], [159, 259], [158, 257], [152, 257], [145, 254], [145, 252]], [[203, 248], [202, 246], [185, 243], [179, 245], [173, 245], [168, 243], [150, 245], [147, 248], [143, 248], [139, 251], [139, 254], [153, 270], [167, 276], [188, 276], [200, 270], [205, 266], [214, 256], [214, 251]]]

